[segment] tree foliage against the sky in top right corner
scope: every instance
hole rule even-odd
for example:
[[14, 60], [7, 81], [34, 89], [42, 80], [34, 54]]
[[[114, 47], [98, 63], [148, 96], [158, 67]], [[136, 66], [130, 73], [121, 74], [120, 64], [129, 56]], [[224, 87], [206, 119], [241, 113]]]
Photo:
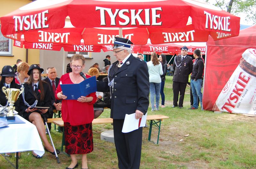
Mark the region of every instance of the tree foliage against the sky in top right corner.
[[[237, 15], [244, 13], [247, 22], [256, 24], [256, 0], [205, 0], [206, 2], [220, 7], [222, 10]], [[213, 2], [213, 3], [211, 3]]]

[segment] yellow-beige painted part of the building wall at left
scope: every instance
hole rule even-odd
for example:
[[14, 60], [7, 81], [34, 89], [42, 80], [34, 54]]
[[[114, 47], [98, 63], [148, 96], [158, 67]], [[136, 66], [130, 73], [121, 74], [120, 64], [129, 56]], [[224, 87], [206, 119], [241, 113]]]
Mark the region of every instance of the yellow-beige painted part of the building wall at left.
[[[2, 17], [31, 2], [30, 0], [0, 0], [0, 16]], [[26, 49], [13, 46], [12, 40], [12, 54], [9, 56], [0, 55], [0, 70], [5, 65], [16, 64], [17, 59], [26, 61]], [[28, 49], [28, 64], [33, 63], [39, 63], [39, 50]]]

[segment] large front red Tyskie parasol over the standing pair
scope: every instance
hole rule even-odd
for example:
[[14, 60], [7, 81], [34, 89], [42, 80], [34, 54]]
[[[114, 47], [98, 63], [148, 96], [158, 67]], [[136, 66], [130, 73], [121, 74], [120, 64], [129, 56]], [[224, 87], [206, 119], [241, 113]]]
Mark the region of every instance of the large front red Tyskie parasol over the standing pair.
[[37, 0], [1, 17], [5, 37], [36, 43], [144, 45], [205, 42], [239, 34], [240, 18], [197, 0]]

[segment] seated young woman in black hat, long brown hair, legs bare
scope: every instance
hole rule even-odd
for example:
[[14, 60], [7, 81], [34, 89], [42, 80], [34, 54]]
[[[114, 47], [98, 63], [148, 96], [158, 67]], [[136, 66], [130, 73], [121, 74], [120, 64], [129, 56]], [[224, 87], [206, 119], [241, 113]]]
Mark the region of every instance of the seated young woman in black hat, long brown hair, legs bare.
[[[44, 69], [40, 68], [37, 64], [29, 67], [29, 79], [22, 84], [24, 91], [20, 101], [20, 109], [22, 117], [36, 125], [36, 129], [44, 142], [45, 151], [54, 155], [54, 149], [47, 140], [44, 128], [44, 122], [47, 120], [49, 111], [48, 109], [31, 108], [32, 106], [51, 107], [50, 87], [48, 83], [41, 80], [41, 72], [43, 71]], [[60, 153], [57, 149], [56, 152], [57, 154]], [[35, 158], [42, 158], [34, 152], [33, 156]]]

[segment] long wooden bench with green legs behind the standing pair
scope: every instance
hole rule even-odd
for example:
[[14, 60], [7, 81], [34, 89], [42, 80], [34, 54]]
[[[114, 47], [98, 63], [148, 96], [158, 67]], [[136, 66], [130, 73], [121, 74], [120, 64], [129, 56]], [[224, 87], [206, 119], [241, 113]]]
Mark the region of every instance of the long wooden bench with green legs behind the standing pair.
[[[161, 122], [163, 119], [169, 118], [168, 116], [164, 115], [148, 115], [147, 120], [149, 121], [149, 132], [148, 132], [148, 141], [151, 141], [151, 133], [152, 133], [152, 127], [153, 125], [156, 126], [158, 129], [158, 135], [157, 135], [157, 142], [155, 144], [158, 144], [159, 141], [159, 135], [160, 135], [160, 128], [161, 128]], [[47, 120], [47, 123], [54, 123], [58, 125], [59, 127], [64, 126], [64, 122], [62, 118], [49, 118]], [[92, 120], [92, 124], [105, 124], [105, 123], [113, 123], [112, 118], [96, 118]], [[64, 128], [62, 132], [62, 143], [61, 143], [61, 151], [63, 152], [63, 145], [64, 145]], [[154, 142], [153, 142], [154, 143]]]

